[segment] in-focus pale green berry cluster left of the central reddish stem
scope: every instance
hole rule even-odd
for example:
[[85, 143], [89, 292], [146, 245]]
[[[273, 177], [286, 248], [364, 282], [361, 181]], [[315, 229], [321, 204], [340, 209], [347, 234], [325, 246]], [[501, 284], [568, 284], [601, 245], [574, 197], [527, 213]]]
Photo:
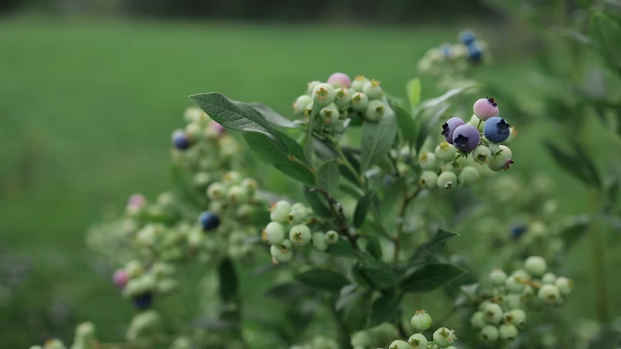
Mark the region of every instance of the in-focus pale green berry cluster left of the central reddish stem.
[[270, 243], [270, 253], [274, 264], [287, 262], [293, 258], [293, 247], [312, 245], [315, 250], [325, 251], [338, 241], [335, 230], [312, 231], [317, 225], [312, 210], [296, 202], [281, 200], [270, 207], [271, 222], [265, 226], [261, 237]]

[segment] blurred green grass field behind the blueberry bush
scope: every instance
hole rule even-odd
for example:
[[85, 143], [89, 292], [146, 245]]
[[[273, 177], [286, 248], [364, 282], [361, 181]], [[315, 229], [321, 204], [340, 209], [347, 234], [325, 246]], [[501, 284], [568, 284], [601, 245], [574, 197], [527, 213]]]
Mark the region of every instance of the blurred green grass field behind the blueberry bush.
[[[511, 47], [506, 28], [485, 25], [474, 27], [496, 43], [502, 63], [483, 68], [481, 79], [524, 83], [532, 69], [528, 53]], [[17, 309], [2, 312], [0, 338], [20, 345], [70, 338], [84, 319], [96, 322], [102, 338], [120, 337], [118, 324], [132, 310], [120, 305], [109, 275], [97, 273], [84, 230], [108, 204], [122, 207], [132, 193], [153, 197], [170, 188], [168, 140], [183, 122], [189, 94], [219, 91], [289, 115], [305, 83], [333, 71], [364, 73], [403, 94], [425, 50], [454, 41], [462, 27], [2, 19], [0, 244], [30, 258], [33, 276]], [[423, 86], [425, 97], [434, 96], [431, 81]], [[520, 131], [516, 170], [549, 172], [559, 188], [573, 189], [560, 191], [563, 211], [581, 212], [581, 186], [538, 142], [553, 128]], [[584, 253], [581, 247], [574, 255]], [[70, 315], [50, 322], [49, 304], [59, 296], [70, 300]]]

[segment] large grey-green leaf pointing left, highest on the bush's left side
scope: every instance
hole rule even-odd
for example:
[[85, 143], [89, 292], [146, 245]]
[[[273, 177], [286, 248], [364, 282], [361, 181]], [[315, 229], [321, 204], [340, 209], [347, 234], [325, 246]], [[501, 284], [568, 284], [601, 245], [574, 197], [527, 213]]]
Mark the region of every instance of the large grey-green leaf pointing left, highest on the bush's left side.
[[225, 128], [266, 135], [283, 152], [287, 151], [287, 146], [275, 134], [270, 123], [247, 104], [232, 101], [217, 92], [194, 94], [189, 96], [189, 99]]

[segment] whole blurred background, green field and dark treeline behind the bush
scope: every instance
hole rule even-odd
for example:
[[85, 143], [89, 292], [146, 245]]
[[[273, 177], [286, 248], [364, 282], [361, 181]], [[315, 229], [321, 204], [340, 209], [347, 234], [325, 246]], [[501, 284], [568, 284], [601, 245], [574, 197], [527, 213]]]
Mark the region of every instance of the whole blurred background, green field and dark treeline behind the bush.
[[[580, 2], [534, 1], [563, 7]], [[501, 1], [502, 3], [502, 1]], [[531, 11], [514, 1], [515, 11]], [[306, 82], [333, 71], [381, 79], [402, 96], [425, 51], [455, 42], [463, 28], [489, 42], [494, 61], [474, 77], [511, 98], [505, 116], [519, 129], [512, 171], [548, 173], [560, 210], [585, 210], [587, 188], [561, 171], [542, 145], [559, 136], [540, 90], [549, 66], [540, 26], [505, 16], [493, 1], [76, 1], [0, 3], [0, 347], [71, 338], [93, 320], [99, 337], [122, 338], [134, 312], [122, 301], [101, 258], [84, 247], [91, 222], [119, 214], [130, 194], [170, 187], [171, 130], [182, 124], [189, 94], [220, 91], [261, 101], [289, 115]], [[567, 9], [568, 11], [564, 11]], [[436, 96], [422, 76], [424, 97]], [[533, 89], [532, 86], [540, 89]], [[558, 90], [555, 90], [558, 91]], [[504, 102], [501, 99], [501, 103]], [[501, 104], [502, 105], [502, 104]], [[522, 109], [541, 111], [534, 119]], [[558, 115], [558, 114], [556, 114]], [[589, 154], [605, 168], [619, 152], [596, 117], [581, 116]], [[262, 166], [256, 163], [254, 166]], [[252, 170], [249, 171], [252, 173]], [[270, 171], [268, 189], [289, 188]], [[283, 184], [284, 183], [284, 184]], [[463, 235], [476, 231], [463, 231]], [[606, 225], [610, 314], [621, 314], [619, 228]], [[467, 240], [467, 239], [466, 239]], [[466, 243], [466, 242], [464, 242]], [[576, 296], [565, 310], [596, 317], [587, 259], [579, 243], [566, 266]], [[243, 281], [243, 282], [248, 282]], [[614, 301], [617, 299], [617, 301]]]

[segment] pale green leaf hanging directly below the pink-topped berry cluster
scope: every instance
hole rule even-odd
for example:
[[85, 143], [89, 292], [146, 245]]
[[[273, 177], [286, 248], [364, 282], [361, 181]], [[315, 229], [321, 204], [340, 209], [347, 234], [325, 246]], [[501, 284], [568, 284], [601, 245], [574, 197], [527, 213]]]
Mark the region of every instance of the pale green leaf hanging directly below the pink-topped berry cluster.
[[362, 126], [360, 172], [365, 173], [371, 166], [389, 152], [397, 135], [397, 121], [392, 109], [387, 108], [379, 122], [365, 120]]

